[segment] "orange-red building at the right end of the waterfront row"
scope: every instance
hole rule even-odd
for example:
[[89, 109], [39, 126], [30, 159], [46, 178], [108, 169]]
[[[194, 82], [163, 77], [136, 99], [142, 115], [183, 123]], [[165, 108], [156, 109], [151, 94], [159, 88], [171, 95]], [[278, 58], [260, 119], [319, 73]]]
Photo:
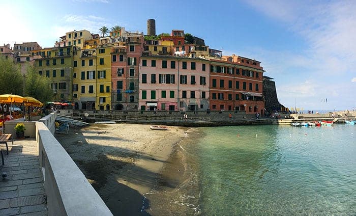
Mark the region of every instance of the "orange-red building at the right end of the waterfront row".
[[210, 61], [210, 109], [263, 115], [260, 62], [235, 55]]

